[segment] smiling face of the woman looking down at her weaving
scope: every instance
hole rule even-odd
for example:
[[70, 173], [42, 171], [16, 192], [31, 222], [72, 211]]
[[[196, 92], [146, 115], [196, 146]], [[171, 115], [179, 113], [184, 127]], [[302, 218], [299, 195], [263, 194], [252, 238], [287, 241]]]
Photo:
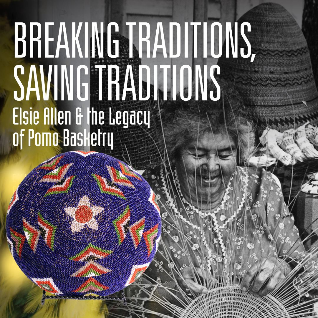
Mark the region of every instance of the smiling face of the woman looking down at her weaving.
[[197, 208], [214, 209], [236, 168], [237, 146], [227, 134], [204, 133], [180, 151], [176, 170], [183, 196]]

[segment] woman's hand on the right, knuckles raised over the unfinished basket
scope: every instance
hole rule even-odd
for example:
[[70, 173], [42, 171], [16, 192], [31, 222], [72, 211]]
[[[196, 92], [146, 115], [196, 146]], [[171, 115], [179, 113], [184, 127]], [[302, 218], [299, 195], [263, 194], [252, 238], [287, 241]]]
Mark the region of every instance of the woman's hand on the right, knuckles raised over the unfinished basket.
[[242, 290], [249, 290], [257, 296], [270, 293], [277, 284], [291, 271], [286, 261], [276, 257], [261, 259], [245, 274], [242, 281]]

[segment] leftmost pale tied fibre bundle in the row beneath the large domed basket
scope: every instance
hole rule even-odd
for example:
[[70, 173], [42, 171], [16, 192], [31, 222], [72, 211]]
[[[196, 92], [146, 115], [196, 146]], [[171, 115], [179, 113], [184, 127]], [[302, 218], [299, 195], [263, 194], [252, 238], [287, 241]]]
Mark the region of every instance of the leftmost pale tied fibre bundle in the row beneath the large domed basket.
[[272, 156], [278, 159], [285, 165], [294, 164], [296, 160], [283, 149], [278, 146], [283, 140], [283, 134], [275, 129], [264, 130], [263, 134], [259, 137], [261, 144], [268, 150]]

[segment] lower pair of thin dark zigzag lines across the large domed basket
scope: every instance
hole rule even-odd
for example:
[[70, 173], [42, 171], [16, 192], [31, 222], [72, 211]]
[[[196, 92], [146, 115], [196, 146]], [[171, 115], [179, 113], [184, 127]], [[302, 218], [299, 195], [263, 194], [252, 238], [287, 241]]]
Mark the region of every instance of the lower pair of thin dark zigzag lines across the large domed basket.
[[236, 84], [240, 83], [243, 85], [252, 85], [252, 86], [281, 86], [281, 87], [286, 87], [286, 86], [298, 86], [301, 84], [307, 84], [309, 82], [314, 81], [314, 76], [313, 74], [308, 74], [306, 76], [300, 76], [300, 77], [293, 77], [293, 78], [255, 78], [255, 79], [247, 79], [246, 77], [243, 77], [241, 75], [233, 76], [231, 73], [225, 73], [222, 75], [225, 79], [235, 81]]

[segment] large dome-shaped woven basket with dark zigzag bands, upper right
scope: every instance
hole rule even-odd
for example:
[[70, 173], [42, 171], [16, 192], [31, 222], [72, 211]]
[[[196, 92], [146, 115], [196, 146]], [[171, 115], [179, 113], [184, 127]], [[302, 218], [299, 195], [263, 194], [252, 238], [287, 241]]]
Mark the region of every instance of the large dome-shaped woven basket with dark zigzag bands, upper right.
[[[284, 131], [307, 121], [316, 125], [318, 93], [306, 39], [295, 19], [281, 5], [266, 2], [240, 17], [238, 29], [243, 22], [251, 24], [247, 38], [256, 54], [254, 61], [223, 54], [218, 65], [220, 76], [241, 93], [256, 124], [256, 135], [267, 126]], [[246, 53], [240, 34], [238, 47]]]

